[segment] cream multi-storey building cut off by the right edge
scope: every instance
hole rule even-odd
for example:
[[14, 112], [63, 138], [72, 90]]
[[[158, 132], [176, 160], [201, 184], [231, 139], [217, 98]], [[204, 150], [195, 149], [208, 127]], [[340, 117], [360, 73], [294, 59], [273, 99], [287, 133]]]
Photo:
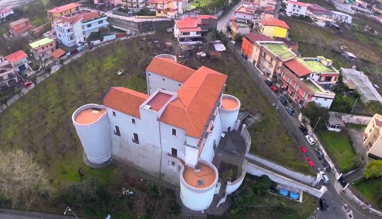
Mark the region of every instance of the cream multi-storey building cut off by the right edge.
[[371, 159], [382, 159], [382, 115], [375, 114], [364, 130], [363, 144], [367, 156]]

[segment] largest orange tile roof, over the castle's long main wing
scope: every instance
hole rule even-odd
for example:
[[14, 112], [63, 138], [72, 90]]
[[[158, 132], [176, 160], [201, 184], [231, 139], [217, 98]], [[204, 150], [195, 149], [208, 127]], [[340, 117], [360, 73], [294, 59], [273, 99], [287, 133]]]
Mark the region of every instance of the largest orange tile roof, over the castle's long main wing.
[[227, 75], [202, 66], [178, 90], [178, 97], [168, 104], [159, 121], [201, 138], [226, 79]]

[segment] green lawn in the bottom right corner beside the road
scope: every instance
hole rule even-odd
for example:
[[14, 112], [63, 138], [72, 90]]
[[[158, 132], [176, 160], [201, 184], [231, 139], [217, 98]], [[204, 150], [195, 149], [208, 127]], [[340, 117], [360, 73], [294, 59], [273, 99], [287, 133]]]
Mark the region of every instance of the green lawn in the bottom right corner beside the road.
[[376, 190], [382, 186], [382, 179], [359, 179], [353, 182], [358, 191], [370, 202], [370, 204], [379, 206], [379, 201], [375, 197]]

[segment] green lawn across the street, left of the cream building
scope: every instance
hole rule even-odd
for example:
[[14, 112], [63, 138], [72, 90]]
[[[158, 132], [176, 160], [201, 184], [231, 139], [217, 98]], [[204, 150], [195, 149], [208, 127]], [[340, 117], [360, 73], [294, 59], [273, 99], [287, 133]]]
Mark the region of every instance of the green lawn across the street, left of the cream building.
[[342, 173], [347, 173], [356, 168], [352, 160], [356, 153], [352, 149], [350, 137], [345, 129], [335, 132], [325, 128], [324, 130], [317, 130], [316, 133]]

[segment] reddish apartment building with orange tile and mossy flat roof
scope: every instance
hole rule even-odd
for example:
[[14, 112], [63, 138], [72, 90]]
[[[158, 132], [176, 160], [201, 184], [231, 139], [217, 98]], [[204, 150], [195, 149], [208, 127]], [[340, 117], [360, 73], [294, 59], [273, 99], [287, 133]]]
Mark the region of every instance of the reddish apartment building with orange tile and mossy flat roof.
[[284, 61], [278, 68], [277, 81], [292, 100], [301, 107], [307, 106], [311, 101], [329, 108], [335, 93], [325, 90], [314, 80], [314, 73], [303, 65], [304, 60], [293, 58]]

